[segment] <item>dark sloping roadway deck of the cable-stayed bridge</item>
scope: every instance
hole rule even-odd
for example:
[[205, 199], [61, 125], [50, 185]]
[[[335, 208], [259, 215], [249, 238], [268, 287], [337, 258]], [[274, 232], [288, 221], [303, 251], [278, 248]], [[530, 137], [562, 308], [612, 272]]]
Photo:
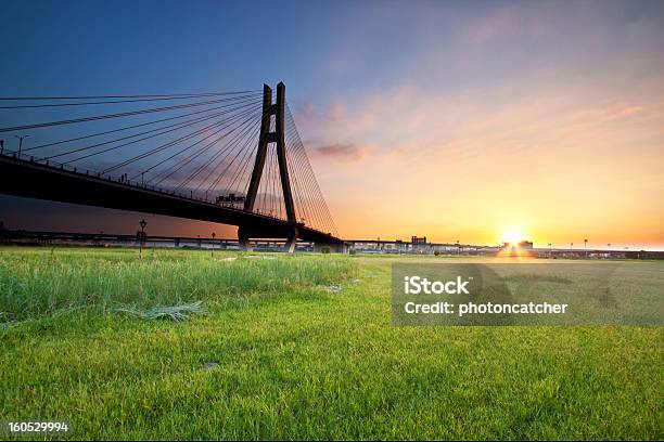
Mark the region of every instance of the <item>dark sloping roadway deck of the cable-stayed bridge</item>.
[[[89, 171], [46, 165], [31, 158], [17, 158], [7, 153], [0, 155], [0, 193], [238, 225], [252, 238], [282, 238], [293, 233], [291, 223], [267, 214], [225, 207], [141, 183], [119, 182]], [[344, 244], [341, 238], [302, 223], [297, 224], [297, 232], [298, 238], [319, 245]]]

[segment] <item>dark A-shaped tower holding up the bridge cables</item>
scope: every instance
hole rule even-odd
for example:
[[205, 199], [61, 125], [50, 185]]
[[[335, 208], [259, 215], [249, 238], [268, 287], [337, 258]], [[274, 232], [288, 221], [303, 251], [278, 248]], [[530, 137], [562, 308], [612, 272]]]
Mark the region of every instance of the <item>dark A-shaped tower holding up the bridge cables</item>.
[[[274, 130], [271, 131], [272, 116], [274, 117]], [[263, 86], [263, 118], [260, 120], [260, 134], [258, 136], [258, 150], [256, 151], [256, 160], [254, 170], [250, 181], [248, 192], [244, 200], [244, 210], [253, 211], [256, 196], [258, 194], [258, 185], [265, 167], [267, 150], [273, 144], [277, 150], [277, 160], [279, 162], [279, 178], [281, 181], [281, 190], [283, 193], [286, 218], [290, 223], [288, 231], [274, 232], [265, 231], [264, 229], [251, 225], [240, 225], [238, 229], [238, 239], [244, 250], [251, 251], [252, 245], [250, 238], [261, 237], [285, 237], [285, 249], [289, 252], [295, 250], [297, 243], [297, 219], [295, 216], [295, 205], [293, 203], [293, 192], [291, 190], [291, 179], [289, 177], [289, 167], [286, 162], [285, 152], [285, 84], [279, 82], [277, 84], [277, 102], [272, 103], [272, 89], [269, 86]]]

